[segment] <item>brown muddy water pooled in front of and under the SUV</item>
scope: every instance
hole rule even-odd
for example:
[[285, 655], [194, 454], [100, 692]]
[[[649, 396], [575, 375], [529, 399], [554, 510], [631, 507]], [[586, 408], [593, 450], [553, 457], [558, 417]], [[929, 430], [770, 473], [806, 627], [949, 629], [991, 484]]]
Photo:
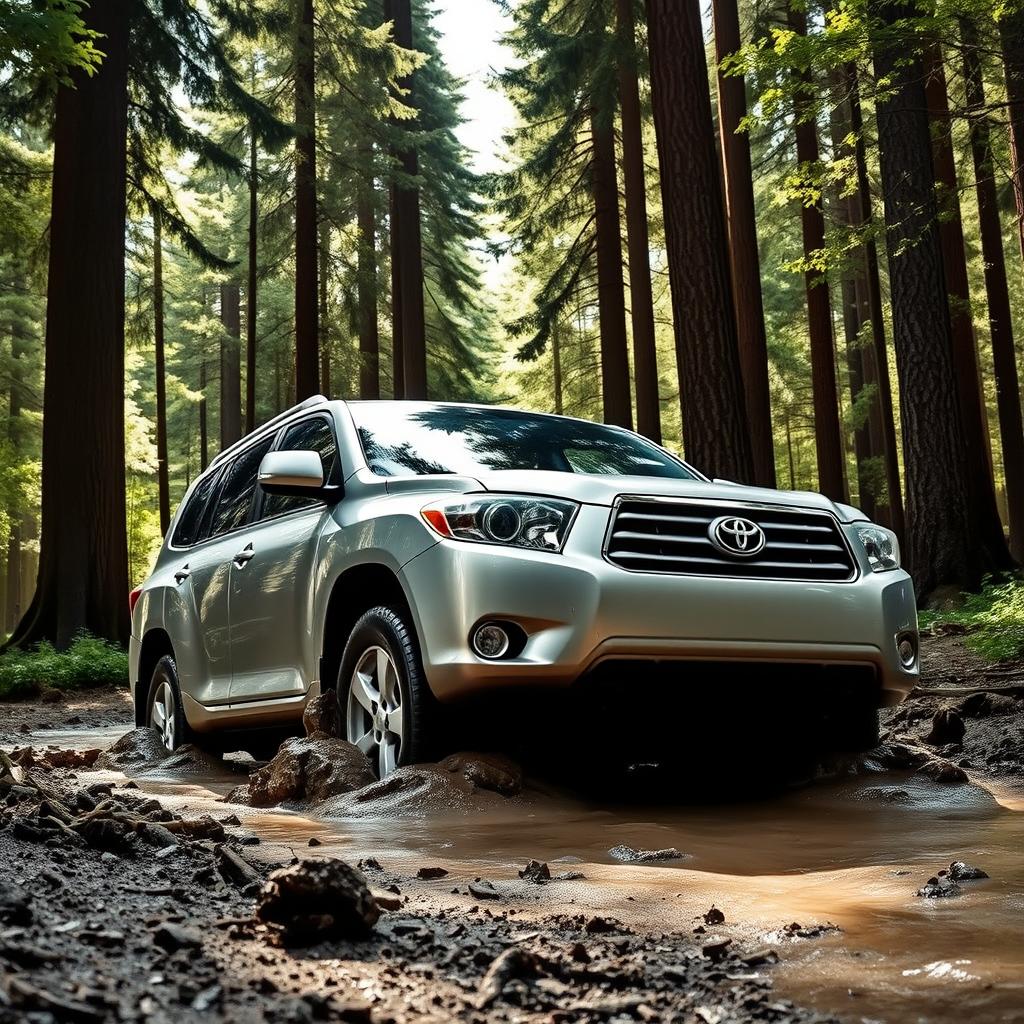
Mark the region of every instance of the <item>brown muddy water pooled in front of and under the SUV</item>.
[[[120, 729], [46, 731], [33, 740], [108, 745]], [[174, 809], [210, 806], [238, 784], [242, 765], [187, 777], [136, 776]], [[692, 779], [687, 783], [693, 785]], [[600, 910], [638, 928], [689, 930], [712, 904], [712, 929], [777, 949], [780, 995], [849, 1021], [1024, 1022], [1024, 800], [981, 785], [942, 786], [894, 773], [817, 782], [754, 803], [603, 805], [551, 790], [483, 811], [381, 813], [344, 820], [236, 811], [271, 856], [374, 856], [395, 869], [440, 864], [446, 893], [463, 880], [516, 879], [526, 860], [586, 879], [539, 887], [538, 913]], [[680, 860], [616, 862], [608, 851], [676, 847]], [[914, 895], [952, 860], [990, 879], [963, 895]], [[452, 897], [458, 899], [458, 897]], [[520, 911], [528, 916], [529, 911]], [[830, 923], [801, 938], [785, 928]]]

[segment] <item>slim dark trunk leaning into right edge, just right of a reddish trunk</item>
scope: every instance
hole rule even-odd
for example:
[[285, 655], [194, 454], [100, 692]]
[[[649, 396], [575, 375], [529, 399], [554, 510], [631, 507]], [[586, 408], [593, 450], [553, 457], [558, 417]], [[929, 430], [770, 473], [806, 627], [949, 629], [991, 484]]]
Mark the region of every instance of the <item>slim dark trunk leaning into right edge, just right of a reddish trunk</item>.
[[1007, 484], [1010, 552], [1024, 561], [1024, 423], [1020, 380], [1014, 349], [1014, 319], [1002, 251], [1002, 224], [995, 188], [991, 130], [985, 113], [985, 84], [978, 54], [978, 33], [968, 19], [961, 22], [964, 43], [964, 80], [971, 125], [971, 156], [978, 194], [981, 252], [985, 264], [985, 294], [995, 368], [995, 400], [1002, 440], [1002, 471]]

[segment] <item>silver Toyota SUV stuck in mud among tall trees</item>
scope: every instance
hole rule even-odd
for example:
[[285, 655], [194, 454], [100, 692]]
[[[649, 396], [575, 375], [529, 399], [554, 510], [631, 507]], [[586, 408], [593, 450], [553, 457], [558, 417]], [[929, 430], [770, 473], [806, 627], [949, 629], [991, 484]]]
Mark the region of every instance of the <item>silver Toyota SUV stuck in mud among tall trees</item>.
[[679, 687], [809, 673], [850, 694], [858, 745], [918, 676], [896, 538], [856, 509], [480, 406], [282, 414], [193, 483], [131, 604], [136, 719], [169, 749], [294, 725], [337, 687], [382, 776], [424, 758], [445, 703], [622, 663], [668, 665]]

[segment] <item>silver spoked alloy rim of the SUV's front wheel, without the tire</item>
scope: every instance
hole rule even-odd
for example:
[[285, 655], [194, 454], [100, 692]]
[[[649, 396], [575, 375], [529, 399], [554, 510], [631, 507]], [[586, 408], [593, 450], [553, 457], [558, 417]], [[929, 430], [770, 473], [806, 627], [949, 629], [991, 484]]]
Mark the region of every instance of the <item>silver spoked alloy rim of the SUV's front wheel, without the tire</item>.
[[384, 778], [398, 767], [404, 735], [401, 684], [394, 659], [383, 647], [369, 647], [355, 665], [348, 686], [345, 735]]

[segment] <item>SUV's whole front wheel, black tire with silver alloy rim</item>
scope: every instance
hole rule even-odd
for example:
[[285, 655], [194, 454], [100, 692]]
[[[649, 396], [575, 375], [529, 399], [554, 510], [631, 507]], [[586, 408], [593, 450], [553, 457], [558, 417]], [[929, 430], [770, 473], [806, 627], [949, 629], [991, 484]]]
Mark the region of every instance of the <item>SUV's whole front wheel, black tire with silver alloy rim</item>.
[[371, 608], [352, 628], [338, 672], [344, 736], [380, 778], [425, 759], [434, 697], [409, 612]]

